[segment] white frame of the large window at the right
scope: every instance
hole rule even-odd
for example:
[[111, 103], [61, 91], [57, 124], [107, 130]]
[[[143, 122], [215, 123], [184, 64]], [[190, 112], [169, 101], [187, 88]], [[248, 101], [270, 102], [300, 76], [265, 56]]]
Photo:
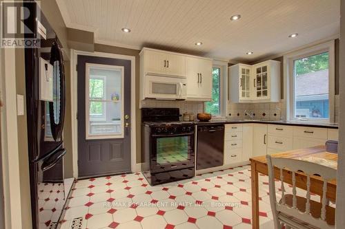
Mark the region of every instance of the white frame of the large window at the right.
[[[328, 52], [328, 118], [295, 118], [295, 61]], [[286, 98], [286, 119], [302, 122], [334, 122], [335, 109], [335, 43], [328, 41], [284, 56], [284, 98]]]

